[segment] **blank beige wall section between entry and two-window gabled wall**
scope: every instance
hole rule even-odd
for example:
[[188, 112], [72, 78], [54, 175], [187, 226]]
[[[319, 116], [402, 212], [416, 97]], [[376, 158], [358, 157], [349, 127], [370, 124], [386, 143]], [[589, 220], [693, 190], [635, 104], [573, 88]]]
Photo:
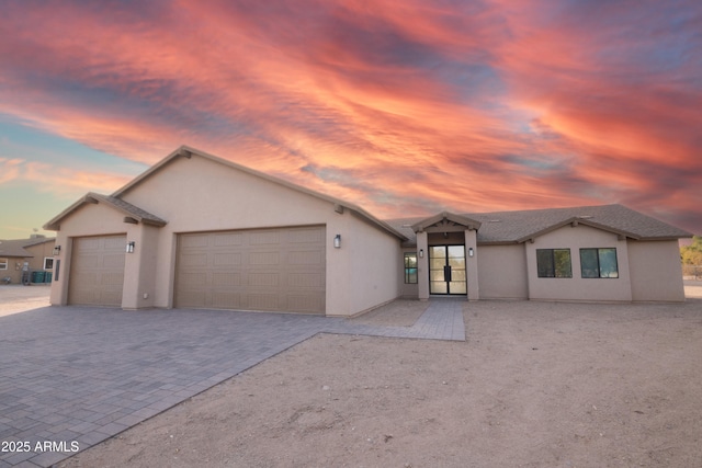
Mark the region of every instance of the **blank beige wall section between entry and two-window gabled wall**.
[[478, 279], [483, 299], [526, 299], [524, 244], [478, 247]]

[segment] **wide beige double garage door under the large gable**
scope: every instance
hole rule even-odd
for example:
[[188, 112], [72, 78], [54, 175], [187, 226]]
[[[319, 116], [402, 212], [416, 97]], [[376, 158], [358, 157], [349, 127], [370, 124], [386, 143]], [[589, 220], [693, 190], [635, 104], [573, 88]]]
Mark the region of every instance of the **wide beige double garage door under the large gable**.
[[180, 308], [325, 313], [324, 226], [183, 233]]

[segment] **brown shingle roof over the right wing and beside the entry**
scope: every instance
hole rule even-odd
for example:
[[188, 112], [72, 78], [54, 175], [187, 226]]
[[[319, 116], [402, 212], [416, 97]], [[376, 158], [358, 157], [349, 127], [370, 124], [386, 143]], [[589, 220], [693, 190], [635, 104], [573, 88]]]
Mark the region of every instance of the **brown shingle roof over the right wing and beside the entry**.
[[[574, 220], [639, 240], [692, 237], [690, 232], [622, 205], [466, 213], [461, 216], [482, 222], [477, 233], [478, 243], [523, 242]], [[403, 232], [409, 239], [407, 243], [411, 246], [417, 242], [411, 226], [422, 219], [424, 218], [388, 219], [387, 224]]]

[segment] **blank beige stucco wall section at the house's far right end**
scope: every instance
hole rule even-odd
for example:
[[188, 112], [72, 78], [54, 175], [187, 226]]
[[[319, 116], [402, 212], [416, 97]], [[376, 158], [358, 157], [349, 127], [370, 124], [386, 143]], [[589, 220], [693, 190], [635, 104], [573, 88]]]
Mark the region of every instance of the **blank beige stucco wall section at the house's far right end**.
[[684, 286], [677, 240], [630, 240], [633, 300], [683, 301]]

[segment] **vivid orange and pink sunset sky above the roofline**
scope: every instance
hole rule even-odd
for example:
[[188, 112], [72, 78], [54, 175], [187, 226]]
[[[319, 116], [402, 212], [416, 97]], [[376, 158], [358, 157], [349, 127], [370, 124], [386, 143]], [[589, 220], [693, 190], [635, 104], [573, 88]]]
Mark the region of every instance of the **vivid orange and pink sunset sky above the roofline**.
[[621, 203], [702, 233], [699, 0], [0, 11], [0, 239], [181, 145], [381, 218]]

